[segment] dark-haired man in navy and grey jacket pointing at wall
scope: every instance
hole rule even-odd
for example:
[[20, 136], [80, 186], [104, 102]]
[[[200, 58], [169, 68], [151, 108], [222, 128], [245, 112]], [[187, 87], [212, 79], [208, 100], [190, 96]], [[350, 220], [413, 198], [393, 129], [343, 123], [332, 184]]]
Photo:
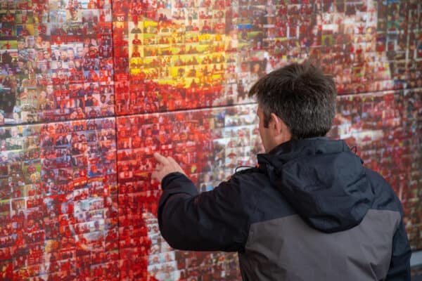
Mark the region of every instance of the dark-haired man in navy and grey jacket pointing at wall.
[[401, 204], [344, 141], [324, 138], [335, 84], [310, 63], [262, 77], [258, 166], [198, 194], [155, 154], [158, 221], [176, 249], [238, 251], [243, 280], [410, 280]]

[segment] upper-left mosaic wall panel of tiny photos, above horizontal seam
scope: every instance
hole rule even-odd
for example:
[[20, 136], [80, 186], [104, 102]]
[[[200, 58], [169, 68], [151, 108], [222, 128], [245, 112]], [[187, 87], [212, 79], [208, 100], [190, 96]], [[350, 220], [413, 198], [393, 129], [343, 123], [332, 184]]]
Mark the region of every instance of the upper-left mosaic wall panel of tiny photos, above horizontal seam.
[[110, 0], [1, 1], [0, 125], [115, 115]]

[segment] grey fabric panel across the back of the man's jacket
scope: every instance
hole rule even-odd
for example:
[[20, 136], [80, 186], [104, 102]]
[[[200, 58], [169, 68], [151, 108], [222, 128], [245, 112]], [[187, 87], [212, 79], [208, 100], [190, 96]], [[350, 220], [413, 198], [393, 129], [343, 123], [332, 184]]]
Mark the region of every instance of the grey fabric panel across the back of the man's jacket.
[[239, 254], [244, 280], [383, 280], [398, 211], [368, 211], [350, 230], [321, 233], [298, 215], [252, 223]]

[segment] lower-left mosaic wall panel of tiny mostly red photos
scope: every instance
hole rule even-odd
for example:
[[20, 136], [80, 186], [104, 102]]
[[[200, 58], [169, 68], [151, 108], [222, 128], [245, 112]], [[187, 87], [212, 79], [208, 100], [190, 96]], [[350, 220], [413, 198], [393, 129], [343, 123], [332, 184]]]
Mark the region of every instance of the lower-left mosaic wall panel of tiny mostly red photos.
[[114, 119], [0, 128], [0, 279], [118, 280]]

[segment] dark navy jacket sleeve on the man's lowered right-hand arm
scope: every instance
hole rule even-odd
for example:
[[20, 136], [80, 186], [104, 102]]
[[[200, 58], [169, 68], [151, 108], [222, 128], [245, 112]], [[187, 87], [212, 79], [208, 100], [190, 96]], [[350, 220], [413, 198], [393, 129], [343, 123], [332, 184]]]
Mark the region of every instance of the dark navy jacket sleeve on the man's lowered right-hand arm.
[[410, 256], [411, 250], [402, 220], [392, 238], [390, 268], [385, 280], [410, 281]]

